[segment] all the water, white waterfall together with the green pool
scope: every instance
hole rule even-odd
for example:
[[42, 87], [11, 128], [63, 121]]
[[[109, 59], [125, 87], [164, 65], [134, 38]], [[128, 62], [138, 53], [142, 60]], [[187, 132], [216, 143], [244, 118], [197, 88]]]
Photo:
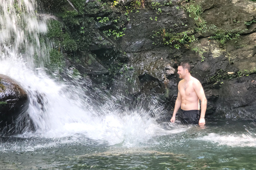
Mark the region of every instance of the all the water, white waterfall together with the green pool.
[[254, 168], [254, 122], [206, 120], [203, 129], [159, 122], [169, 113], [155, 100], [131, 111], [116, 107], [124, 101], [117, 94], [95, 106], [84, 86], [51, 79], [44, 69], [51, 42], [40, 41], [47, 20], [33, 0], [0, 0], [0, 73], [27, 90], [25, 122], [35, 127], [1, 137], [0, 169]]

